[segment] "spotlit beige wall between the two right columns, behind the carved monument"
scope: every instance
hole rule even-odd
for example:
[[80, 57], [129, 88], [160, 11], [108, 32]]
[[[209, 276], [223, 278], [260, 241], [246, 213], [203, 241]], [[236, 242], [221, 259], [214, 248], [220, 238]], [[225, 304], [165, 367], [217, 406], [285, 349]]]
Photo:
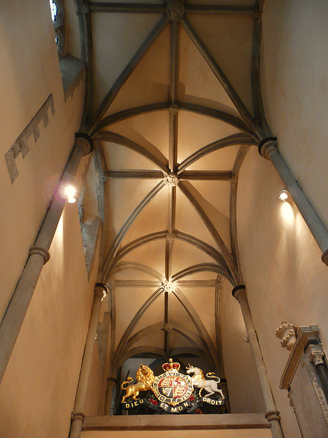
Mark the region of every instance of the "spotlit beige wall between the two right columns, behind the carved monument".
[[294, 203], [279, 201], [283, 184], [253, 148], [238, 182], [238, 244], [249, 307], [286, 436], [299, 437], [279, 381], [288, 359], [275, 329], [282, 321], [318, 324], [327, 345], [328, 270]]

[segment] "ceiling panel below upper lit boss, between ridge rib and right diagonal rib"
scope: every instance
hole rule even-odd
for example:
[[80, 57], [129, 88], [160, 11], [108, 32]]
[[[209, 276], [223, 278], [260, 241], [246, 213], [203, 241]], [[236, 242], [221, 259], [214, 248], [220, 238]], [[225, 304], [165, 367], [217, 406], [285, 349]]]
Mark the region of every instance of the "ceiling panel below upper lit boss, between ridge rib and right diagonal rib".
[[206, 242], [206, 244], [213, 246], [213, 248], [217, 248], [215, 240], [210, 235], [197, 211], [180, 190], [177, 190], [176, 193], [176, 229], [182, 231], [182, 233], [193, 235], [197, 239]]

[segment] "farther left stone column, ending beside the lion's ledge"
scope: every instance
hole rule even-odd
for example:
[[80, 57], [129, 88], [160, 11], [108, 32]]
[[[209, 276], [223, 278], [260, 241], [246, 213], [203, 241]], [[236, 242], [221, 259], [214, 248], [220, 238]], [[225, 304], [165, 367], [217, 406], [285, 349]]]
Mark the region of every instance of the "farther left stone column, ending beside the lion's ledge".
[[87, 340], [85, 341], [85, 348], [79, 377], [79, 385], [77, 385], [77, 396], [75, 398], [74, 411], [72, 413], [70, 438], [79, 438], [81, 435], [81, 428], [84, 419], [83, 410], [85, 404], [85, 396], [87, 394], [87, 383], [92, 362], [92, 352], [94, 350], [94, 340], [96, 338], [96, 332], [98, 328], [100, 306], [102, 298], [105, 298], [107, 293], [107, 285], [103, 283], [96, 283], [94, 288], [94, 304], [92, 305], [89, 330], [87, 332]]

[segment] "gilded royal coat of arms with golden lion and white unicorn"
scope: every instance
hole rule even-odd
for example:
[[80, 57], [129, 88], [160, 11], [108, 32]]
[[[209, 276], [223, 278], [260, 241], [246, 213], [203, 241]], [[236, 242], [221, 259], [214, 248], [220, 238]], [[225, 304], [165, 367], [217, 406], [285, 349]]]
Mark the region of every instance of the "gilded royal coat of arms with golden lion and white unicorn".
[[[219, 377], [214, 373], [207, 373], [208, 379], [206, 379], [200, 368], [188, 365], [187, 375], [184, 375], [179, 372], [180, 363], [169, 359], [169, 362], [162, 365], [164, 373], [157, 377], [147, 365], [140, 365], [136, 374], [137, 383], [126, 386], [133, 381], [133, 378], [128, 377], [128, 380], [121, 385], [126, 391], [121, 402], [122, 409], [133, 409], [143, 404], [156, 411], [180, 413], [186, 409], [191, 412], [204, 402], [214, 406], [224, 406], [225, 397], [217, 386], [220, 382]], [[196, 389], [199, 389], [198, 393]], [[139, 392], [147, 390], [152, 391], [159, 401], [149, 396], [138, 398]], [[207, 396], [202, 396], [203, 390], [208, 393]], [[209, 396], [213, 394], [214, 398], [210, 398]], [[131, 401], [128, 401], [129, 399]]]

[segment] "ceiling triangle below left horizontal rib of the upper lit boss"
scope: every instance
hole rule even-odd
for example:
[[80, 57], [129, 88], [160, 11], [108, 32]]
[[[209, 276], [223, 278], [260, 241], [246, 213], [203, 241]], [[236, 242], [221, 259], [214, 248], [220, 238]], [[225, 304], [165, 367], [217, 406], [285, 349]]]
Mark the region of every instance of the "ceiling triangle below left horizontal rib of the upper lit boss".
[[[124, 222], [128, 220], [143, 198], [154, 188], [154, 181], [140, 180], [137, 188], [133, 179], [107, 181], [109, 205], [109, 229], [107, 235], [113, 242]], [[155, 195], [156, 196], [156, 195]], [[120, 205], [120, 208], [117, 206]]]

